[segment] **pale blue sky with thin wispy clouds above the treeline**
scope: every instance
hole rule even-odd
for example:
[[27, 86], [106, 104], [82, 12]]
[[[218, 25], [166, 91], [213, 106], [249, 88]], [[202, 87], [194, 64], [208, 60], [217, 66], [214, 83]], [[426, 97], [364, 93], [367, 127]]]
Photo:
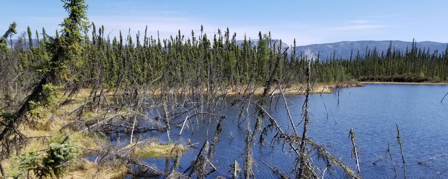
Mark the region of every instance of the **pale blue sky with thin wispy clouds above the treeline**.
[[[200, 26], [209, 34], [218, 28], [237, 39], [258, 39], [271, 31], [273, 39], [297, 45], [357, 40], [448, 42], [448, 0], [86, 0], [87, 17], [104, 25], [110, 36], [138, 30], [169, 38], [181, 30], [190, 37]], [[67, 16], [59, 0], [5, 0], [1, 3], [0, 34], [17, 22], [19, 32], [45, 27], [60, 30]]]

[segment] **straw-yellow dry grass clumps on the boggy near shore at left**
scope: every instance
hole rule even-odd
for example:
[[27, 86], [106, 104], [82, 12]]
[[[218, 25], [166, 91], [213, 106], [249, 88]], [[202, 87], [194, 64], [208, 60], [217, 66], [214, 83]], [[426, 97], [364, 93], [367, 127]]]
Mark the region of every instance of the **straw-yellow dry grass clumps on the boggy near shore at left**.
[[[67, 166], [64, 179], [122, 179], [130, 173], [131, 169], [127, 165], [107, 165], [98, 166], [97, 162], [86, 160], [85, 157], [90, 153], [83, 150], [100, 149], [101, 146], [109, 145], [109, 141], [104, 136], [94, 133], [81, 132], [79, 128], [70, 127], [69, 124], [76, 123], [75, 113], [67, 115], [69, 111], [82, 105], [89, 97], [90, 89], [82, 89], [79, 93], [68, 100], [65, 105], [57, 107], [56, 111], [41, 111], [45, 116], [38, 120], [36, 125], [23, 125], [22, 133], [28, 138], [26, 146], [23, 146], [21, 153], [28, 153], [47, 148], [51, 142], [52, 137], [70, 134], [74, 145], [79, 147], [80, 154], [73, 161], [65, 163]], [[61, 103], [65, 98], [58, 98]], [[116, 111], [123, 112], [123, 111]], [[86, 121], [86, 124], [95, 124], [97, 121], [108, 118], [114, 115], [107, 110], [98, 109], [96, 111], [84, 112], [81, 119]], [[78, 120], [80, 120], [78, 118]], [[139, 144], [134, 147], [131, 156], [140, 158], [172, 158], [172, 150], [184, 150], [182, 145], [163, 144], [157, 139], [145, 140], [149, 141], [145, 144]], [[40, 157], [45, 155], [40, 154]], [[16, 173], [19, 169], [14, 165], [14, 157], [2, 161], [2, 166], [5, 169], [6, 176]]]

